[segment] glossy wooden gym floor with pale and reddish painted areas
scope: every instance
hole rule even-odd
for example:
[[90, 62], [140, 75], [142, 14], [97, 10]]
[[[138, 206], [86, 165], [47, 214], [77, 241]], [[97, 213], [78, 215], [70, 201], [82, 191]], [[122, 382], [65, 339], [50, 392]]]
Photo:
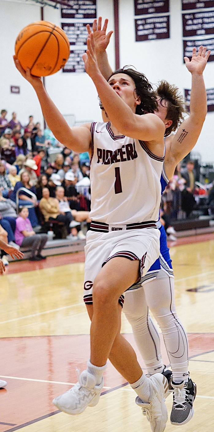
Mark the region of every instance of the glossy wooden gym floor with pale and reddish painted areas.
[[[192, 420], [182, 432], [214, 431], [214, 234], [170, 244], [176, 306], [189, 339], [197, 383]], [[56, 410], [53, 397], [76, 383], [89, 356], [90, 322], [82, 300], [84, 254], [10, 263], [0, 289], [0, 432], [149, 432], [135, 392], [108, 362], [98, 405], [79, 416]], [[123, 316], [122, 333], [136, 349]], [[136, 349], [138, 353], [138, 350]], [[164, 344], [162, 355], [169, 364]], [[138, 353], [138, 360], [144, 367]], [[172, 396], [167, 398], [170, 416]], [[176, 426], [167, 422], [165, 431]]]

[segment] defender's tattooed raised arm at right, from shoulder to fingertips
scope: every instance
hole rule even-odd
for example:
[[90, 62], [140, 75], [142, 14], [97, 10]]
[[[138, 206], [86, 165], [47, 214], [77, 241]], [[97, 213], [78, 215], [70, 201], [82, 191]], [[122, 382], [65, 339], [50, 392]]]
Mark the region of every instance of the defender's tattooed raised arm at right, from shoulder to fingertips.
[[166, 140], [166, 158], [164, 168], [168, 178], [171, 178], [176, 165], [195, 146], [201, 133], [202, 126], [207, 114], [207, 95], [203, 71], [208, 62], [210, 50], [202, 45], [192, 50], [192, 59], [184, 57], [185, 64], [192, 74], [192, 88], [190, 96], [189, 117], [179, 126], [175, 135]]

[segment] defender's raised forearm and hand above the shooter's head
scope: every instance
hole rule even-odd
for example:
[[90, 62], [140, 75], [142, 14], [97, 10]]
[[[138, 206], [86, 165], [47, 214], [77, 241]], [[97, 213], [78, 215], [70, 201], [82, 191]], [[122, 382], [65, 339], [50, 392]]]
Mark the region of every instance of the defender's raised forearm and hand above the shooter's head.
[[[94, 22], [92, 24], [92, 30], [94, 35], [94, 46], [95, 46], [98, 67], [106, 80], [109, 79], [109, 77], [113, 72], [108, 62], [108, 57], [106, 52], [106, 48], [109, 44], [110, 37], [113, 33], [113, 30], [111, 30], [106, 34], [107, 24], [108, 24], [108, 19], [105, 19], [103, 28], [101, 28], [102, 27], [101, 16], [99, 16], [98, 20], [94, 19]], [[91, 27], [89, 24], [87, 24], [86, 27], [88, 30], [88, 34], [90, 35]]]

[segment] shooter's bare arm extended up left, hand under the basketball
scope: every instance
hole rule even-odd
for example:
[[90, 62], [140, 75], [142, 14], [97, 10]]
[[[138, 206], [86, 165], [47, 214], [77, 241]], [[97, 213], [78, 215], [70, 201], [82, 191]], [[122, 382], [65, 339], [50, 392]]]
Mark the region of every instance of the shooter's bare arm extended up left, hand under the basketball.
[[63, 115], [48, 95], [41, 78], [31, 75], [29, 69], [25, 71], [15, 56], [13, 56], [13, 59], [16, 69], [19, 70], [21, 75], [35, 89], [41, 105], [42, 113], [48, 127], [52, 130], [53, 135], [58, 141], [60, 141], [60, 143], [64, 144], [64, 146], [69, 149], [72, 149], [75, 152], [87, 152], [90, 149], [91, 144], [90, 124], [85, 127], [70, 128], [63, 118]]

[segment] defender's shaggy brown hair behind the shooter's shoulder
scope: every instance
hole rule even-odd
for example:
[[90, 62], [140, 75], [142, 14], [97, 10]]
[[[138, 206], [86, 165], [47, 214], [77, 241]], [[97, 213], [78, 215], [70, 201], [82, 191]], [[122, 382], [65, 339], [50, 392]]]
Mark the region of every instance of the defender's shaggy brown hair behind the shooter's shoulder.
[[176, 86], [164, 80], [159, 81], [156, 95], [157, 98], [161, 98], [161, 102], [162, 100], [167, 101], [166, 118], [172, 120], [171, 126], [167, 127], [164, 134], [165, 137], [168, 137], [184, 120], [183, 114], [186, 113], [184, 99]]

